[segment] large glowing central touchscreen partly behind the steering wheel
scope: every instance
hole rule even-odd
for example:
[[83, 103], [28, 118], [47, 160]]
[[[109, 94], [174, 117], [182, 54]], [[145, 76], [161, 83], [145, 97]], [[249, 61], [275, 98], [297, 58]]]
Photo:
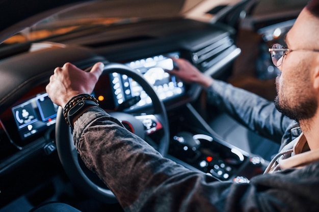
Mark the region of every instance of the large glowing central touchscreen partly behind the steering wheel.
[[[162, 100], [166, 100], [180, 96], [184, 93], [183, 82], [165, 71], [173, 69], [173, 60], [171, 57], [178, 58], [179, 53], [172, 52], [165, 55], [161, 54], [137, 59], [125, 63], [125, 65], [140, 72], [145, 79], [153, 85], [158, 97]], [[151, 103], [151, 99], [134, 79], [131, 79], [126, 75], [113, 73], [111, 82], [116, 106], [137, 96], [140, 96], [141, 100], [136, 106], [144, 106]]]

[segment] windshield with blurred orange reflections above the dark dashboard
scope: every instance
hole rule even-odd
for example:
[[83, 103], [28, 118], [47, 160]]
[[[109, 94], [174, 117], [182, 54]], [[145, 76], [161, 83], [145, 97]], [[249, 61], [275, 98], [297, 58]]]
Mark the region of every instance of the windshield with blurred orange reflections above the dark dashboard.
[[[200, 2], [196, 0], [193, 2]], [[26, 27], [3, 44], [36, 41], [76, 32], [83, 28], [134, 23], [142, 20], [180, 16], [184, 0], [93, 1], [63, 9], [55, 15]], [[192, 5], [193, 6], [193, 5]]]

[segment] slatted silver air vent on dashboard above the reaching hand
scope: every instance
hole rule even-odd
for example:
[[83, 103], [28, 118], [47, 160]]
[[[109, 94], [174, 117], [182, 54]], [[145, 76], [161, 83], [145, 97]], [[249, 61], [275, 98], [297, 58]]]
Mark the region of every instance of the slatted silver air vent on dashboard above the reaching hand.
[[225, 37], [192, 53], [193, 63], [202, 71], [213, 66], [236, 49], [234, 42]]

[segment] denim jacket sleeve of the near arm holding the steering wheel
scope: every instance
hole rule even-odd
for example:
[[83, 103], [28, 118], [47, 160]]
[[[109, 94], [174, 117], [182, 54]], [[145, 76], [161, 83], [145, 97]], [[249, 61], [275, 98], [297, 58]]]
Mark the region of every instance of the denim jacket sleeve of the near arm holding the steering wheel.
[[[73, 136], [86, 166], [124, 211], [318, 211], [319, 163], [249, 184], [220, 182], [162, 157], [100, 108], [76, 120]], [[300, 180], [305, 177], [313, 180]]]

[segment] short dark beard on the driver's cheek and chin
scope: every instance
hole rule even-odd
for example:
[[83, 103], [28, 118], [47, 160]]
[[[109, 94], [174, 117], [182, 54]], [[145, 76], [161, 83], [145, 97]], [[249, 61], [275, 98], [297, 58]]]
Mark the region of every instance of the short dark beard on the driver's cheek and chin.
[[[311, 90], [310, 90], [311, 88], [309, 88], [309, 84], [307, 84], [306, 86], [303, 86], [302, 83], [299, 84], [299, 88], [294, 89], [295, 94], [291, 94], [290, 97], [286, 97], [289, 94], [286, 94], [286, 93], [283, 94], [283, 91], [279, 90], [280, 75], [281, 74], [279, 74], [276, 78], [276, 88], [277, 88], [277, 97], [275, 98], [276, 109], [282, 114], [284, 114], [285, 116], [291, 119], [297, 120], [297, 122], [312, 118], [316, 113], [318, 103], [314, 95], [311, 95], [313, 93], [311, 93]], [[302, 80], [300, 80], [300, 82], [302, 82]], [[290, 92], [291, 92], [291, 89], [290, 89]]]

